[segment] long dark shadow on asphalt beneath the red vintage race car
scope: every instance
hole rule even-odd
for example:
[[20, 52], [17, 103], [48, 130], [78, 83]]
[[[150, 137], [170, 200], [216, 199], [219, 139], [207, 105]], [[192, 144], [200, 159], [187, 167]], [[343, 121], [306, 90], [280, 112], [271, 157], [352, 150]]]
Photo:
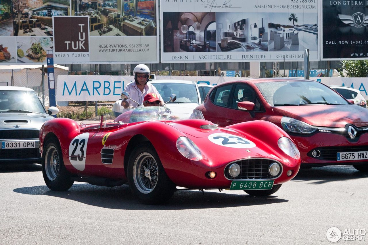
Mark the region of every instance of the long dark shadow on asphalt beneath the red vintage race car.
[[138, 201], [130, 192], [128, 185], [120, 187], [100, 187], [90, 184], [74, 184], [68, 191], [50, 191], [45, 186], [23, 187], [13, 190], [27, 195], [46, 195], [56, 198], [74, 200], [87, 205], [121, 210], [185, 210], [208, 209], [220, 207], [238, 207], [267, 205], [273, 203], [289, 202], [278, 196], [253, 197], [244, 194], [231, 194], [230, 191], [213, 192], [181, 190], [176, 191], [171, 199], [162, 205], [145, 205]]

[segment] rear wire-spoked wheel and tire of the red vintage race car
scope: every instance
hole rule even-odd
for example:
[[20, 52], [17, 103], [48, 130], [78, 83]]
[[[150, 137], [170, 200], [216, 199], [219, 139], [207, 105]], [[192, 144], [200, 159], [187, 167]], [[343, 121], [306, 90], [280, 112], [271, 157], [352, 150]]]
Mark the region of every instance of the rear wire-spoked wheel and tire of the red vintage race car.
[[43, 147], [42, 175], [47, 187], [53, 191], [66, 191], [74, 184], [64, 166], [60, 143], [55, 138], [47, 140]]

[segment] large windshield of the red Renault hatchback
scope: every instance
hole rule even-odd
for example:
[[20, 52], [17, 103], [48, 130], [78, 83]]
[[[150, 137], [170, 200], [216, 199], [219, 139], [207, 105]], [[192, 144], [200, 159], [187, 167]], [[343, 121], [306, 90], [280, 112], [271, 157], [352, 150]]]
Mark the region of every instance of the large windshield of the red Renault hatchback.
[[313, 81], [280, 81], [255, 84], [271, 106], [348, 104], [327, 86]]

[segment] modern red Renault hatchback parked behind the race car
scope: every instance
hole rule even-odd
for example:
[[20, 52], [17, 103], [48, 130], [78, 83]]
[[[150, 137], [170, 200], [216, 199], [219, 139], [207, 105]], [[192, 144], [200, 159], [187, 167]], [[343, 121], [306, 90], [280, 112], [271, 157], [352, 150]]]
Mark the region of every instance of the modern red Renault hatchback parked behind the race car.
[[254, 120], [276, 124], [298, 146], [301, 166], [353, 165], [368, 171], [368, 110], [319, 82], [294, 78], [224, 82], [210, 90], [197, 110], [222, 127]]

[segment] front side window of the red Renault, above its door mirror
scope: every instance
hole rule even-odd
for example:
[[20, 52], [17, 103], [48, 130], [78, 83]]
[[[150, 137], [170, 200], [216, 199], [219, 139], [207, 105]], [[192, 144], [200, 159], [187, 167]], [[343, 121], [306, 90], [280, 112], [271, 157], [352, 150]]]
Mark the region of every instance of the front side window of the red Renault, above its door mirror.
[[234, 90], [234, 98], [231, 104], [232, 108], [238, 108], [238, 102], [249, 101], [254, 103], [254, 111], [263, 111], [261, 101], [253, 88], [247, 84], [237, 84]]

